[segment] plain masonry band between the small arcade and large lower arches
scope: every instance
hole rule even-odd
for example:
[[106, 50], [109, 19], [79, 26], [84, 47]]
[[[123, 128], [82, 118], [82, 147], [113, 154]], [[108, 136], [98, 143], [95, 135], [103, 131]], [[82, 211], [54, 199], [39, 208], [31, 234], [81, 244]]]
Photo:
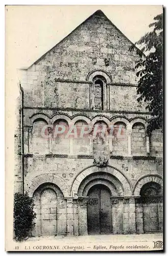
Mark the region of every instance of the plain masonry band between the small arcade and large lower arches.
[[[54, 174], [61, 177], [70, 187], [76, 174], [82, 169], [93, 164], [92, 159], [79, 158], [55, 158], [45, 156], [34, 156], [24, 158], [24, 183], [25, 190], [35, 177], [42, 174]], [[133, 160], [133, 159], [109, 159], [109, 165], [120, 169], [129, 178], [132, 186], [138, 178], [147, 174], [162, 175], [162, 161], [158, 160]], [[103, 169], [101, 169], [103, 170]]]

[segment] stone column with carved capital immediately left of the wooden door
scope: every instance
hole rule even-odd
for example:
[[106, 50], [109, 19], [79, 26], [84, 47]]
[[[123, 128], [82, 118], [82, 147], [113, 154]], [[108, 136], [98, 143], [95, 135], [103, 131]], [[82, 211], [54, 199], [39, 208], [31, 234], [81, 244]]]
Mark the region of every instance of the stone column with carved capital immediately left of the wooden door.
[[78, 198], [79, 236], [86, 236], [88, 234], [87, 204], [88, 197]]

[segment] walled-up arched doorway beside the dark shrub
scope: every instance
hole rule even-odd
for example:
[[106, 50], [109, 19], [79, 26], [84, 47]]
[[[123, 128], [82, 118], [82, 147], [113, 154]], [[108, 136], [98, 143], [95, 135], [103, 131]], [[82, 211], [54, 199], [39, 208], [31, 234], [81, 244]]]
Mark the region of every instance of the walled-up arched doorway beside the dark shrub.
[[33, 194], [36, 212], [33, 236], [55, 236], [67, 232], [67, 207], [61, 189], [53, 183], [41, 184]]

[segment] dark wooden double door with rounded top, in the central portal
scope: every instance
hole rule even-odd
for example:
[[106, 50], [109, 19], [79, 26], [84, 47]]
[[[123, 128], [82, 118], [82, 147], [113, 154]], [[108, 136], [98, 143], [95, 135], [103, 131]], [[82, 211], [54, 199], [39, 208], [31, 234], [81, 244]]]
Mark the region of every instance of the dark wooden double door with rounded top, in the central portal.
[[110, 191], [105, 185], [95, 185], [88, 191], [88, 234], [111, 233]]

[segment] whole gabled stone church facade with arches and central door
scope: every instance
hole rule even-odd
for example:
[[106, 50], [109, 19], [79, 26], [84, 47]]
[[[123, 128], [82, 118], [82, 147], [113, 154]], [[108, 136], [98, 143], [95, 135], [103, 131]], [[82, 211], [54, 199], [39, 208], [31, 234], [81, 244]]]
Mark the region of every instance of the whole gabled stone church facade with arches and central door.
[[162, 232], [162, 133], [146, 132], [131, 45], [96, 11], [21, 70], [14, 189], [34, 199], [33, 236]]

